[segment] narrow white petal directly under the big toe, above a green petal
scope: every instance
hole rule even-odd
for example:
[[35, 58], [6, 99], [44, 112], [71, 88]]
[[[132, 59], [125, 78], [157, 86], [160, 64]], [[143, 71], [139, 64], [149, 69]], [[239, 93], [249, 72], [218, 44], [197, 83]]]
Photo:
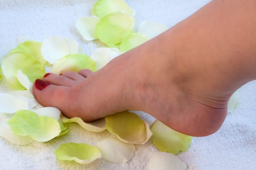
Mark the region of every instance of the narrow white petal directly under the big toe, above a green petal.
[[39, 116], [47, 116], [59, 121], [60, 110], [57, 109], [56, 107], [42, 107], [32, 111]]

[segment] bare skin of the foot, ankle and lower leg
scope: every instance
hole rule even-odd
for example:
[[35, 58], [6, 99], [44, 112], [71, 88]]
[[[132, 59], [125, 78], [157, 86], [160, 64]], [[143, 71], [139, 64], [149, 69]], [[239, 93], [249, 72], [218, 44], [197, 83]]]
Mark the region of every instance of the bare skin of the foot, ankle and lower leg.
[[230, 96], [256, 79], [255, 16], [256, 0], [212, 0], [95, 73], [49, 74], [35, 97], [84, 121], [141, 110], [183, 134], [213, 134]]

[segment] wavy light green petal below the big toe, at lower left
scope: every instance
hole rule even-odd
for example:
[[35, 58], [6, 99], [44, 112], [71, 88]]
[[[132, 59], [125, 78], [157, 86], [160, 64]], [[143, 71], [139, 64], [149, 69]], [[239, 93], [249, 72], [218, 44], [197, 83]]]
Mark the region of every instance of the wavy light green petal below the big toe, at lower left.
[[20, 110], [8, 120], [13, 132], [20, 136], [30, 136], [36, 141], [45, 142], [60, 133], [59, 122], [50, 117], [38, 116], [29, 110]]

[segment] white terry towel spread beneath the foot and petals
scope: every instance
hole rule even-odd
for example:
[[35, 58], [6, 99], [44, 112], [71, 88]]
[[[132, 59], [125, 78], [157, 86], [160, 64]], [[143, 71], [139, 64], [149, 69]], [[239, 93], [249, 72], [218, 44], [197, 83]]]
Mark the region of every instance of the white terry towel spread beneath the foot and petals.
[[[188, 17], [209, 0], [127, 0], [136, 11], [136, 29], [143, 20], [165, 23], [172, 27]], [[22, 35], [42, 41], [57, 35], [76, 39], [86, 54], [90, 55], [98, 41], [85, 42], [75, 28], [79, 17], [90, 16], [95, 0], [0, 0], [0, 57], [15, 48]], [[0, 91], [10, 88], [5, 80]], [[194, 137], [187, 152], [177, 156], [188, 170], [255, 170], [256, 169], [256, 81], [239, 90], [239, 104], [227, 115], [217, 133], [207, 137]], [[154, 118], [138, 113], [150, 123]], [[0, 123], [11, 116], [0, 114]], [[125, 164], [115, 164], [103, 159], [89, 165], [57, 160], [54, 151], [68, 142], [96, 142], [107, 132], [91, 133], [77, 124], [70, 125], [70, 132], [46, 143], [33, 142], [27, 146], [13, 145], [0, 138], [1, 170], [144, 170], [152, 153], [157, 151], [148, 141], [136, 145], [136, 153]]]

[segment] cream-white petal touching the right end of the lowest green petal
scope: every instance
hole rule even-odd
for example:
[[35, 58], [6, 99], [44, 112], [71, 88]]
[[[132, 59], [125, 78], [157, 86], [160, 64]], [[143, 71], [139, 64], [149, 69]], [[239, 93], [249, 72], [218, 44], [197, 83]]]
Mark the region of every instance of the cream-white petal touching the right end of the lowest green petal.
[[104, 138], [98, 141], [97, 146], [102, 158], [115, 163], [129, 161], [135, 152], [133, 144], [121, 142], [116, 138]]

